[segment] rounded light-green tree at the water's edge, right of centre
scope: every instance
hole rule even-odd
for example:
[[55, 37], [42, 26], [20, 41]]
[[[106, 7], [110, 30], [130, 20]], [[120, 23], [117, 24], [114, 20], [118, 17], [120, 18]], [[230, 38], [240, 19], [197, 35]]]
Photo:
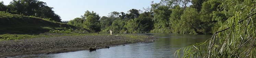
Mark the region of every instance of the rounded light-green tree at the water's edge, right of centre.
[[[184, 11], [184, 14], [181, 15], [182, 25], [180, 28], [183, 28], [182, 34], [196, 34], [198, 32], [198, 27], [200, 23], [200, 17], [195, 8], [187, 7], [187, 10]], [[191, 31], [194, 30], [194, 31]]]

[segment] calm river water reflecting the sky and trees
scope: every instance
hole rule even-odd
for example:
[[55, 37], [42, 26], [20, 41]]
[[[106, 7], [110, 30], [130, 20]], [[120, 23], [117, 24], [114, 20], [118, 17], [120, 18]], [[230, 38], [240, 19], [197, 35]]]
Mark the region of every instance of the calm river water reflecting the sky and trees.
[[126, 44], [110, 46], [109, 49], [99, 49], [89, 52], [89, 50], [34, 55], [13, 58], [175, 58], [176, 50], [204, 42], [211, 38], [212, 35], [187, 35], [187, 34], [145, 34], [159, 36], [159, 41], [150, 41], [135, 44]]

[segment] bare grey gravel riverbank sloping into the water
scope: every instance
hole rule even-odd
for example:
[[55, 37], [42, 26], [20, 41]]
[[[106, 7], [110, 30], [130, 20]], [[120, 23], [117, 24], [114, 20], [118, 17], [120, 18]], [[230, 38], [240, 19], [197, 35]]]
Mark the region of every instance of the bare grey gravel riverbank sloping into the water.
[[95, 35], [42, 37], [0, 41], [0, 57], [51, 54], [107, 48], [107, 46], [131, 44], [155, 40], [147, 35]]

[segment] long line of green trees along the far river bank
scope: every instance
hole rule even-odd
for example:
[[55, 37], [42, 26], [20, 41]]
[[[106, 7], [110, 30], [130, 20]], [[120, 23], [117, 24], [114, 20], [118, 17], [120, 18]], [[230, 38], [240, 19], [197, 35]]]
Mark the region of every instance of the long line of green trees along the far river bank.
[[[189, 5], [189, 2], [192, 5]], [[152, 1], [151, 7], [130, 9], [125, 12], [110, 12], [108, 16], [97, 17], [96, 24], [89, 26], [89, 18], [75, 18], [68, 24], [97, 28], [101, 33], [177, 33], [177, 34], [213, 34], [228, 19], [220, 12], [222, 0], [161, 0]], [[86, 11], [85, 13], [94, 13]], [[92, 27], [92, 28], [90, 28]]]

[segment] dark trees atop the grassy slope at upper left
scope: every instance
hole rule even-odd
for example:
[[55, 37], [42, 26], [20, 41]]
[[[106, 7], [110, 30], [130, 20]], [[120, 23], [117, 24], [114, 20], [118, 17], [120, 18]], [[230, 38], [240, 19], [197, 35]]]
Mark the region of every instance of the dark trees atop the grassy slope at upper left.
[[61, 22], [60, 16], [55, 14], [52, 9], [53, 7], [49, 7], [45, 2], [39, 0], [12, 0], [9, 5], [4, 5], [3, 1], [0, 2], [0, 11], [3, 13], [33, 16]]

